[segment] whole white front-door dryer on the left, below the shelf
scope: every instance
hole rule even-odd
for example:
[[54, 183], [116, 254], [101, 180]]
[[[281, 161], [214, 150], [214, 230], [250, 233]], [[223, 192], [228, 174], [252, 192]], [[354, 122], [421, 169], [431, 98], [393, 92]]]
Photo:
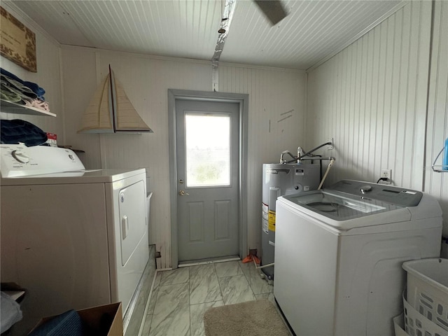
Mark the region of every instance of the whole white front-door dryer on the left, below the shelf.
[[149, 258], [145, 169], [88, 172], [67, 149], [0, 149], [1, 281], [27, 289], [13, 334], [111, 302], [125, 316]]

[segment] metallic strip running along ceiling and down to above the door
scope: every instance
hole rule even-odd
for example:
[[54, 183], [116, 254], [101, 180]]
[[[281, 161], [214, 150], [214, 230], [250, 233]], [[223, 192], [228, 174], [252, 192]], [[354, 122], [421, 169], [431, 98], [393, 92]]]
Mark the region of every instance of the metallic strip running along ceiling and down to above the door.
[[[233, 12], [235, 10], [235, 3], [237, 0], [225, 0], [224, 10], [221, 13], [221, 25], [218, 30], [218, 41], [216, 42], [215, 52], [211, 57], [211, 90], [218, 91], [218, 62], [221, 57], [221, 52], [224, 49], [224, 43], [227, 39], [230, 29], [230, 22], [232, 22]], [[221, 6], [222, 9], [222, 6]]]

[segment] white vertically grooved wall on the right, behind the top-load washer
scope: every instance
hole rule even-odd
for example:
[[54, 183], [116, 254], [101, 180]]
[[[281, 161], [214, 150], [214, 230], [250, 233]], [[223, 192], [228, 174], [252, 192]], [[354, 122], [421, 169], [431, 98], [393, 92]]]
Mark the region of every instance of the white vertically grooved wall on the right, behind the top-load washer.
[[306, 139], [311, 146], [334, 137], [330, 153], [337, 161], [329, 183], [377, 181], [381, 169], [392, 169], [396, 186], [437, 197], [448, 230], [448, 174], [430, 169], [448, 137], [448, 3], [436, 6], [431, 63], [432, 2], [410, 1], [309, 71]]

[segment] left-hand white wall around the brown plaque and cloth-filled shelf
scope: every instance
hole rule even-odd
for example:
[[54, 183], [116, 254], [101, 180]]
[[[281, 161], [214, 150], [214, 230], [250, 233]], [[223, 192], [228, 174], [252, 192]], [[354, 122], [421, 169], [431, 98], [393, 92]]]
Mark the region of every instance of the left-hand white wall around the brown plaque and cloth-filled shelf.
[[58, 143], [66, 144], [64, 139], [64, 110], [62, 102], [62, 85], [59, 71], [59, 43], [48, 36], [33, 21], [28, 20], [21, 13], [10, 8], [7, 3], [2, 3], [5, 8], [15, 18], [20, 20], [25, 26], [36, 34], [36, 59], [37, 72], [30, 72], [21, 66], [11, 62], [5, 57], [0, 57], [0, 66], [7, 71], [14, 73], [22, 80], [37, 83], [45, 89], [45, 101], [50, 106], [50, 112], [56, 113], [57, 118], [49, 116], [27, 116], [22, 114], [12, 114], [1, 110], [2, 119], [22, 119], [40, 127], [44, 132], [57, 134]]

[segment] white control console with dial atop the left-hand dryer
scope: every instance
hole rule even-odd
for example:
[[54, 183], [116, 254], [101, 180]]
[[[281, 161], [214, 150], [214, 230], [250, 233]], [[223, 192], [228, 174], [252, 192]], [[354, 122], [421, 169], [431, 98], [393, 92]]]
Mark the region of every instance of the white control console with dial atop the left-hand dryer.
[[78, 156], [68, 148], [0, 145], [1, 177], [20, 177], [84, 170]]

